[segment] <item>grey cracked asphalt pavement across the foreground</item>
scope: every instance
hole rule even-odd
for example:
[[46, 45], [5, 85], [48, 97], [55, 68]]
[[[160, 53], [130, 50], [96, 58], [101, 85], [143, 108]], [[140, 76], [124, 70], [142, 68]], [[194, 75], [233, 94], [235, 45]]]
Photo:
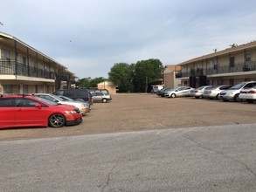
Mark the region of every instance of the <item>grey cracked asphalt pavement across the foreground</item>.
[[256, 191], [256, 124], [0, 141], [1, 191]]

